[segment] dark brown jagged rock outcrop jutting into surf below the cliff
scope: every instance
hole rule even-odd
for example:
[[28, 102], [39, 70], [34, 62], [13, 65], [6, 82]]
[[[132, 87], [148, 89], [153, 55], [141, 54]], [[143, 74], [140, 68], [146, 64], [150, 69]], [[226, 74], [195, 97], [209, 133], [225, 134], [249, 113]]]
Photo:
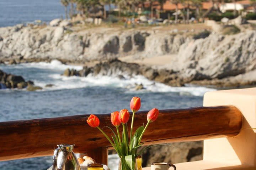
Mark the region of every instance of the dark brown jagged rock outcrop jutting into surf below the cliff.
[[125, 79], [123, 75], [128, 75], [129, 77], [132, 77], [133, 75], [143, 75], [149, 80], [158, 81], [171, 86], [184, 86], [188, 81], [180, 79], [178, 73], [173, 70], [153, 69], [151, 67], [140, 66], [135, 63], [122, 62], [118, 59], [100, 62], [93, 67], [85, 66], [79, 71], [66, 69], [63, 73], [65, 76], [77, 75], [80, 77], [86, 77], [88, 74], [92, 74], [94, 76], [107, 75], [118, 77], [119, 79]]

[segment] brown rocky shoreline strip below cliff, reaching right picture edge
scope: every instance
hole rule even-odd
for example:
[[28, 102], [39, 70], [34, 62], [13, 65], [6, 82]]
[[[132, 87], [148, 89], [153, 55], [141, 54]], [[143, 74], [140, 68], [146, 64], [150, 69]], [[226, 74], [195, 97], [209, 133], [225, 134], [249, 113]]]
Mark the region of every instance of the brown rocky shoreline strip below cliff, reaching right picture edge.
[[[204, 75], [200, 73], [195, 74], [191, 77], [180, 77], [180, 72], [174, 70], [160, 68], [154, 69], [149, 66], [140, 65], [136, 63], [122, 62], [118, 59], [108, 60], [106, 62], [100, 62], [92, 67], [84, 66], [82, 70], [66, 69], [63, 73], [64, 76], [80, 76], [86, 77], [87, 75], [92, 76], [111, 76], [119, 79], [132, 78], [135, 75], [143, 75], [149, 80], [153, 80], [159, 83], [164, 83], [170, 86], [186, 86], [187, 84], [207, 86], [214, 88], [221, 87], [241, 87], [241, 86], [253, 86], [256, 85], [256, 80], [251, 80], [254, 72], [247, 74], [241, 74], [238, 76], [227, 77], [223, 79], [211, 79], [204, 78]], [[250, 75], [253, 74], [253, 75]], [[137, 85], [136, 90], [143, 89], [143, 85]]]

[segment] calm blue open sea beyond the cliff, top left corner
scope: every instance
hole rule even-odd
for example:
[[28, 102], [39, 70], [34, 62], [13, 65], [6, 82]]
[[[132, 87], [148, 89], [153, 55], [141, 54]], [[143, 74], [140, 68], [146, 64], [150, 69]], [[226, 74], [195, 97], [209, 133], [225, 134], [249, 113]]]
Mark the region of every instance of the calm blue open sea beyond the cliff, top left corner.
[[60, 0], [0, 0], [0, 27], [65, 17]]

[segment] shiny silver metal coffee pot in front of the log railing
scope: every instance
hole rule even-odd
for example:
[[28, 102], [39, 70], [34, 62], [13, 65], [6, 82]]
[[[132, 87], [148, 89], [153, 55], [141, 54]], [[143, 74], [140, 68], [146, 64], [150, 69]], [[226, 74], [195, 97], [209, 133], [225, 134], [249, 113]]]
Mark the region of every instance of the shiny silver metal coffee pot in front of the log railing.
[[78, 159], [73, 152], [75, 145], [57, 145], [53, 155], [52, 170], [81, 170]]

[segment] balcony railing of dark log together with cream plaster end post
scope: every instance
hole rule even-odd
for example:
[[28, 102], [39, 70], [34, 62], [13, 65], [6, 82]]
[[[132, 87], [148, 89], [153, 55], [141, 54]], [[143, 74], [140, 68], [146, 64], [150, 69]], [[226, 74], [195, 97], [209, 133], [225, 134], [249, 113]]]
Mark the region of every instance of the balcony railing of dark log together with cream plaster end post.
[[[158, 119], [150, 124], [142, 138], [142, 142], [145, 142], [145, 145], [150, 145], [205, 140], [204, 160], [194, 164], [197, 166], [202, 165], [202, 167], [192, 169], [207, 169], [205, 166], [209, 164], [209, 167], [215, 167], [217, 170], [218, 168], [216, 167], [221, 167], [222, 164], [216, 166], [216, 163], [211, 164], [205, 160], [211, 159], [211, 161], [224, 161], [226, 163], [229, 161], [229, 156], [226, 156], [226, 152], [231, 153], [230, 159], [236, 159], [236, 156], [238, 157], [240, 163], [235, 164], [239, 164], [238, 167], [245, 167], [244, 162], [253, 164], [248, 167], [256, 167], [256, 143], [254, 142], [255, 145], [253, 145], [253, 141], [250, 141], [248, 142], [248, 146], [244, 143], [244, 146], [240, 146], [239, 148], [234, 142], [240, 142], [240, 145], [242, 145], [243, 142], [240, 138], [248, 135], [240, 133], [241, 130], [243, 130], [242, 127], [246, 129], [248, 127], [251, 128], [247, 120], [244, 119], [245, 115], [247, 117], [248, 114], [246, 111], [247, 108], [254, 108], [252, 112], [254, 120], [256, 120], [256, 89], [254, 89], [255, 96], [252, 98], [249, 96], [248, 101], [245, 100], [246, 97], [234, 98], [231, 95], [231, 100], [234, 101], [225, 102], [225, 99], [227, 99], [225, 98], [225, 92], [226, 91], [224, 91], [224, 93], [210, 92], [207, 94], [204, 97], [204, 106], [207, 107], [160, 110]], [[249, 94], [251, 94], [251, 92], [249, 92]], [[224, 95], [224, 97], [222, 96], [218, 99], [218, 95]], [[239, 102], [240, 99], [242, 100], [241, 102]], [[253, 100], [253, 102], [250, 102], [250, 100]], [[234, 106], [214, 106], [220, 105], [219, 103], [221, 102], [224, 104], [233, 104]], [[242, 104], [250, 105], [250, 107], [241, 107], [240, 105]], [[254, 104], [254, 106], [251, 106], [252, 104]], [[235, 106], [238, 106], [239, 109]], [[148, 111], [141, 111], [135, 114], [135, 128], [146, 124], [147, 112]], [[248, 112], [250, 112], [250, 110]], [[53, 155], [57, 144], [67, 143], [76, 145], [74, 152], [87, 153], [89, 156], [93, 157], [96, 162], [107, 164], [107, 151], [111, 149], [110, 143], [97, 128], [91, 128], [87, 125], [86, 119], [88, 116], [89, 115], [74, 115], [58, 118], [0, 122], [0, 146], [4, 146], [1, 147], [0, 161]], [[100, 119], [100, 127], [112, 127], [110, 114], [99, 114], [98, 117]], [[107, 135], [111, 135], [111, 131], [108, 128], [104, 130]], [[252, 128], [249, 131], [253, 131]], [[236, 137], [236, 135], [238, 135], [238, 137]], [[255, 133], [250, 133], [250, 136], [252, 140], [256, 141]], [[214, 140], [216, 139], [214, 138], [228, 139], [228, 142], [222, 139], [215, 142]], [[209, 146], [209, 143], [212, 146]], [[231, 151], [232, 147], [230, 146], [233, 147], [235, 152]], [[248, 148], [249, 146], [252, 146], [252, 148]], [[221, 147], [225, 148], [221, 149]], [[242, 151], [241, 147], [243, 147], [244, 151]], [[245, 159], [243, 162], [243, 159], [239, 157], [240, 152], [247, 154], [252, 152], [252, 160]], [[242, 166], [240, 166], [240, 164], [242, 164]], [[183, 163], [180, 167], [190, 166], [192, 165]], [[208, 169], [213, 170], [214, 168]]]

